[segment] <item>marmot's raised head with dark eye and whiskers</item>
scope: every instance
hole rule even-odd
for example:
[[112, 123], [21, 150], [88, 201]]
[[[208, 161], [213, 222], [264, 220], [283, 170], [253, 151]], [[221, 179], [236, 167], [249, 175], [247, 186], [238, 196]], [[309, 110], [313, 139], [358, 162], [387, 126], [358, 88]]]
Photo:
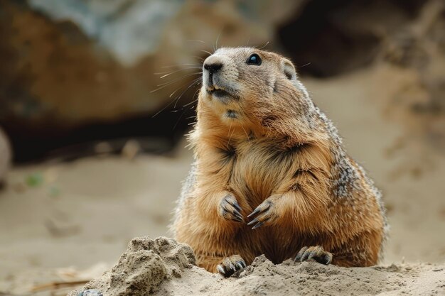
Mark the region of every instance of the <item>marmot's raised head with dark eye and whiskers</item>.
[[200, 102], [227, 126], [277, 129], [313, 108], [291, 61], [256, 48], [220, 48], [203, 63]]

